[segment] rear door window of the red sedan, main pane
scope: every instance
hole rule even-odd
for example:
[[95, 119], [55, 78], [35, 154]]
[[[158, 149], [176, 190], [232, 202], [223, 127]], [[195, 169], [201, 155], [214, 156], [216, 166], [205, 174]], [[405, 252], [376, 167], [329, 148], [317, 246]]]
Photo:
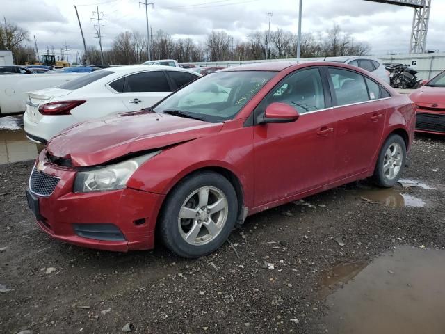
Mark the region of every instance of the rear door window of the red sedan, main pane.
[[368, 101], [368, 90], [364, 77], [357, 72], [330, 68], [328, 70], [337, 97], [337, 105]]

